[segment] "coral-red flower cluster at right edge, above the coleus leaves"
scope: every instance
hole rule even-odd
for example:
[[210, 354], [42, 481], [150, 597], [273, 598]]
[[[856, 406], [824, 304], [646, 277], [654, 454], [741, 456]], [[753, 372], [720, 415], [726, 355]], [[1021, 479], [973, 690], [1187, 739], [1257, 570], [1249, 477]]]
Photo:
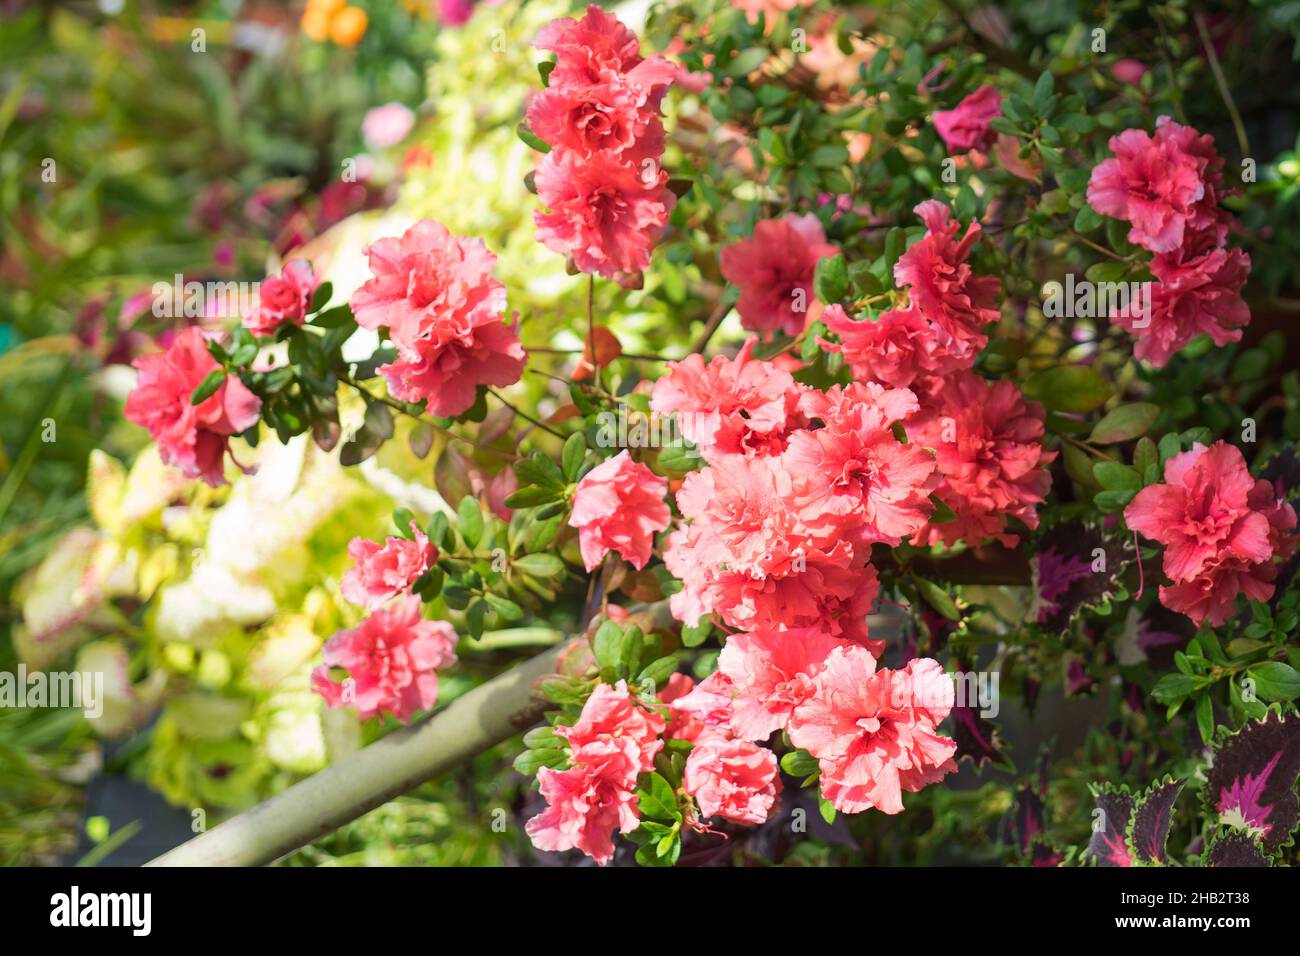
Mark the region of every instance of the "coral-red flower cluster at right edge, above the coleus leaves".
[[1277, 562], [1296, 549], [1295, 510], [1222, 441], [1165, 462], [1165, 481], [1140, 490], [1124, 520], [1165, 545], [1173, 584], [1161, 587], [1160, 600], [1197, 624], [1226, 623], [1238, 594], [1273, 597]]

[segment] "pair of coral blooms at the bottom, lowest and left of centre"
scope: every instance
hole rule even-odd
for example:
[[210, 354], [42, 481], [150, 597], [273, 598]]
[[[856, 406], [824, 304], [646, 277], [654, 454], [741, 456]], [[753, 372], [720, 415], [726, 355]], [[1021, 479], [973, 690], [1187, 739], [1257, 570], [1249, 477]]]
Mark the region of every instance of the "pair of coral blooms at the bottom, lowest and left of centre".
[[569, 769], [537, 771], [549, 806], [524, 827], [533, 845], [608, 862], [614, 830], [637, 827], [637, 775], [654, 767], [663, 730], [663, 718], [637, 704], [625, 682], [598, 685], [577, 723], [555, 728], [571, 747]]

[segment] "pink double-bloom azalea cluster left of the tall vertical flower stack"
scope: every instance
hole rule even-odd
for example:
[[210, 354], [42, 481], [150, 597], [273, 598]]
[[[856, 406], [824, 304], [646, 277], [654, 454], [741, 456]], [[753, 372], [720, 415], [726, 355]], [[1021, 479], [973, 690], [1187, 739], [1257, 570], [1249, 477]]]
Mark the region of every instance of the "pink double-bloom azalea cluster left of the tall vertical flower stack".
[[374, 277], [352, 294], [352, 312], [364, 329], [389, 329], [398, 360], [380, 371], [395, 398], [454, 416], [474, 403], [480, 385], [519, 381], [524, 349], [503, 321], [497, 256], [480, 239], [421, 220], [367, 254]]

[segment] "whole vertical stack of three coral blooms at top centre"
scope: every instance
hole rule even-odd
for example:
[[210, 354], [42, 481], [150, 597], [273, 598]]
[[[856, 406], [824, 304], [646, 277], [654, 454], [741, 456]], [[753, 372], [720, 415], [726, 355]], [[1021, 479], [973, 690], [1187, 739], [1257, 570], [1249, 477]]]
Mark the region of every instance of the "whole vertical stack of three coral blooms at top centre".
[[537, 237], [581, 272], [636, 285], [676, 204], [663, 170], [659, 104], [677, 77], [662, 56], [642, 57], [636, 34], [590, 5], [555, 20], [534, 46], [555, 55], [528, 124], [550, 152], [537, 168]]

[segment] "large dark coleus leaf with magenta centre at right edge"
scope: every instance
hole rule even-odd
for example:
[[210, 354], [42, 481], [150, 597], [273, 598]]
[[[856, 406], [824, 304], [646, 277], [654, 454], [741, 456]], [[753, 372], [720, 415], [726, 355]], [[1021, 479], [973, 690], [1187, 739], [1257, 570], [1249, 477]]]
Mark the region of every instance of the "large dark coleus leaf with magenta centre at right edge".
[[1274, 856], [1300, 819], [1300, 715], [1277, 709], [1235, 734], [1221, 728], [1201, 799], [1209, 819], [1260, 839]]

